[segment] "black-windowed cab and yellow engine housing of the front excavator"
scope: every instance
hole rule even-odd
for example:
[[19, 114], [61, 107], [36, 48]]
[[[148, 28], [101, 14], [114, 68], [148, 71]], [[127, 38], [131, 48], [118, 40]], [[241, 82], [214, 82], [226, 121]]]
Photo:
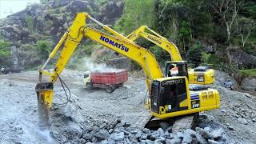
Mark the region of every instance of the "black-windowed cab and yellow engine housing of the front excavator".
[[206, 88], [189, 90], [185, 76], [157, 78], [150, 85], [151, 114], [157, 118], [171, 118], [219, 107], [217, 90]]

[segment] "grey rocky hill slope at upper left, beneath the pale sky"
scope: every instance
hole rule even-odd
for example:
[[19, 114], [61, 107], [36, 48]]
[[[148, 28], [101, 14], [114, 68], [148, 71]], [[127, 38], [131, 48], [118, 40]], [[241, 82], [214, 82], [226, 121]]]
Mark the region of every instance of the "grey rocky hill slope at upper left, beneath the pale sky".
[[[91, 1], [91, 0], [58, 0], [46, 4], [35, 4], [27, 6], [16, 14], [0, 20], [0, 35], [12, 45], [21, 48], [27, 45], [34, 45], [39, 40], [50, 40], [55, 45], [66, 29], [72, 24], [78, 12], [87, 12], [98, 21], [113, 25], [122, 15], [123, 3], [118, 0]], [[12, 48], [11, 50], [14, 50]], [[25, 48], [25, 50], [27, 50]], [[14, 54], [13, 59], [30, 57], [21, 54]], [[31, 58], [34, 59], [34, 58]]]

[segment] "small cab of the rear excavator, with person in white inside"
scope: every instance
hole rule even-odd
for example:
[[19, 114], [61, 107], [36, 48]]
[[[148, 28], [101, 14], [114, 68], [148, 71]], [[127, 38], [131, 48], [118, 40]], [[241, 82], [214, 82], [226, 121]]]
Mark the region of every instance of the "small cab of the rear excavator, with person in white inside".
[[186, 61], [166, 61], [166, 77], [186, 76], [189, 78]]

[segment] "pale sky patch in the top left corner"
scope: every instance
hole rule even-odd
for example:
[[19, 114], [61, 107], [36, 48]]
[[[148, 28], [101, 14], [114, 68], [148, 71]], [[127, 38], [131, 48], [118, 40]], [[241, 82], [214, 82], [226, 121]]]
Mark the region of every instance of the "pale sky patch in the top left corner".
[[28, 4], [39, 3], [39, 0], [0, 0], [0, 19], [24, 10]]

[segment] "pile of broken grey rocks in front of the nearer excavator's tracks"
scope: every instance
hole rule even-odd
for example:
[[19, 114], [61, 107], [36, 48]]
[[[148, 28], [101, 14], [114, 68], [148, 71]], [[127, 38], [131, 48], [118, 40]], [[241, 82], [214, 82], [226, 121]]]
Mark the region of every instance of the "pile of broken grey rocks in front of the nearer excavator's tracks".
[[[170, 127], [171, 128], [171, 127]], [[149, 130], [130, 127], [120, 120], [105, 123], [105, 126], [87, 127], [79, 140], [79, 143], [223, 143], [226, 136], [222, 128], [212, 129], [196, 127], [195, 130], [184, 130], [171, 133], [170, 129]]]

